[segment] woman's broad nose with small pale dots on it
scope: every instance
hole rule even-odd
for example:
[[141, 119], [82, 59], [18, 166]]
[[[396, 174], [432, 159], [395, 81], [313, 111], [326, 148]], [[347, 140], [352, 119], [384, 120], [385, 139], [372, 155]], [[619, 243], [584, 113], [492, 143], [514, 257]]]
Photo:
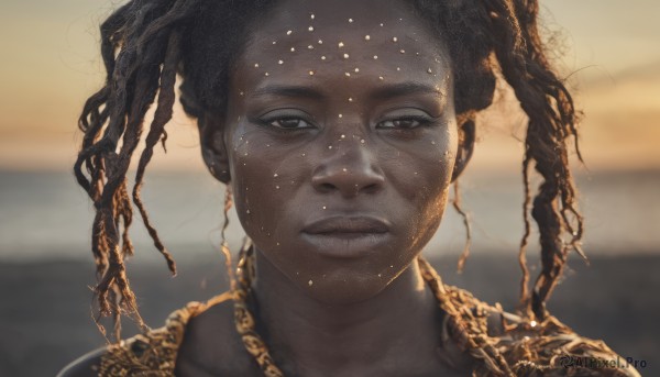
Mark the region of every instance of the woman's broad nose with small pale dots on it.
[[385, 176], [367, 142], [345, 141], [312, 171], [311, 184], [317, 191], [339, 192], [344, 198], [352, 198], [383, 189]]

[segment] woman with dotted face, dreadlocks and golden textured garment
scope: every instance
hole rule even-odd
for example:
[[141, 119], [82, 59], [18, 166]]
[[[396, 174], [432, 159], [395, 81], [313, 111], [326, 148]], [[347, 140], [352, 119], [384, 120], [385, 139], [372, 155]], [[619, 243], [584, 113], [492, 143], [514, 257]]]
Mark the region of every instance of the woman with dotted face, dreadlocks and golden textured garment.
[[[249, 239], [230, 292], [62, 375], [638, 376], [593, 363], [618, 356], [544, 309], [579, 250], [582, 219], [568, 169], [575, 113], [544, 58], [537, 8], [144, 0], [119, 9], [101, 26], [108, 79], [85, 106], [75, 168], [97, 210], [99, 315], [144, 325], [123, 267], [125, 174], [156, 96], [133, 201], [175, 270], [140, 186], [165, 141], [177, 74], [204, 159], [228, 185], [226, 212], [233, 192]], [[543, 269], [519, 315], [444, 286], [420, 256], [470, 159], [496, 67], [529, 115], [526, 180], [532, 163], [544, 179], [531, 210]], [[529, 233], [527, 213], [526, 224]]]

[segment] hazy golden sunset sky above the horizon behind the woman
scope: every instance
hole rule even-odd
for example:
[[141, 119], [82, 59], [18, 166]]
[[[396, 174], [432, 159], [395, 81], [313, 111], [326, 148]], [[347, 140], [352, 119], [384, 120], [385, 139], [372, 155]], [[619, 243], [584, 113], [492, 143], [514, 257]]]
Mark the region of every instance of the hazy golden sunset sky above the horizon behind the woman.
[[[2, 1], [0, 168], [69, 169], [80, 138], [77, 113], [102, 80], [98, 24], [120, 3]], [[660, 1], [550, 0], [542, 7], [544, 26], [562, 33], [562, 74], [579, 70], [569, 82], [586, 113], [587, 163], [592, 168], [660, 167], [654, 151], [660, 145]], [[477, 167], [519, 165], [519, 144], [510, 134], [521, 121], [504, 115], [515, 111], [512, 107], [504, 103], [488, 115], [495, 125], [481, 131]], [[158, 156], [156, 165], [201, 167], [188, 123], [176, 117], [172, 152]]]

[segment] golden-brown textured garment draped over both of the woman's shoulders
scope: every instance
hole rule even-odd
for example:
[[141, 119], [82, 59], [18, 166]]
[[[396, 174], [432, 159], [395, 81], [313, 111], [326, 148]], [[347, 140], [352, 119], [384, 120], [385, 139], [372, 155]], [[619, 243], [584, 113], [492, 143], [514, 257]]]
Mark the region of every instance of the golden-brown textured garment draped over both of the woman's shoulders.
[[[634, 367], [626, 367], [625, 358], [604, 342], [575, 334], [554, 317], [550, 315], [542, 323], [525, 322], [475, 299], [465, 290], [447, 285], [444, 288], [455, 307], [461, 308], [461, 318], [471, 336], [495, 347], [515, 376], [640, 376]], [[99, 377], [174, 376], [177, 351], [190, 318], [231, 299], [227, 292], [207, 303], [190, 302], [172, 313], [165, 326], [109, 346], [101, 358]], [[497, 367], [487, 367], [477, 361], [477, 354], [471, 355], [465, 341], [453, 336], [458, 332], [451, 329], [447, 318], [440, 336], [448, 351], [449, 365], [465, 370], [465, 376], [507, 376], [493, 372]]]

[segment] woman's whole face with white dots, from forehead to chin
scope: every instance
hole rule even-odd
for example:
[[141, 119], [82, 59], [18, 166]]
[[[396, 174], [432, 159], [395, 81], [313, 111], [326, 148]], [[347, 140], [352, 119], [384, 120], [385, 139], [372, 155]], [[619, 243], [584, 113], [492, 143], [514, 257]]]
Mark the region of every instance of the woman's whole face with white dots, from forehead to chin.
[[323, 302], [375, 296], [433, 235], [458, 148], [446, 49], [397, 1], [285, 0], [231, 77], [240, 221]]

